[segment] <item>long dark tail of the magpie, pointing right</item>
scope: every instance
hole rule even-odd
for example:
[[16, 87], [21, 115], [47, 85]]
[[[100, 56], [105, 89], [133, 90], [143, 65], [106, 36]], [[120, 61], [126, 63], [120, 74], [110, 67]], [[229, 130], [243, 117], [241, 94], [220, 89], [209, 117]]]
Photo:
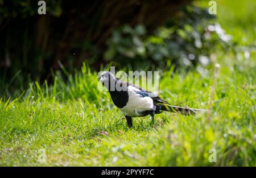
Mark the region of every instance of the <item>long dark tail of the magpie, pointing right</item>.
[[166, 105], [166, 104], [162, 104], [159, 106], [160, 106], [160, 110], [162, 111], [179, 112], [184, 115], [196, 114], [197, 112], [200, 112], [200, 111], [210, 112], [209, 110], [206, 110], [206, 109], [195, 109], [190, 107], [180, 107], [180, 106], [172, 106], [172, 105]]

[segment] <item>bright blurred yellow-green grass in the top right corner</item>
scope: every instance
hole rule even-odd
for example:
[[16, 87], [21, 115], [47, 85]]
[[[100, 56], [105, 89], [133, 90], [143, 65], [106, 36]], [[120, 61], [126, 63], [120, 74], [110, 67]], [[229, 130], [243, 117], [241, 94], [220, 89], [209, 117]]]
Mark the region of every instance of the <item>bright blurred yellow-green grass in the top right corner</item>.
[[[254, 45], [256, 38], [256, 2], [254, 0], [214, 0], [217, 7], [217, 22], [232, 35], [233, 42], [240, 45]], [[196, 1], [209, 8], [209, 1]]]

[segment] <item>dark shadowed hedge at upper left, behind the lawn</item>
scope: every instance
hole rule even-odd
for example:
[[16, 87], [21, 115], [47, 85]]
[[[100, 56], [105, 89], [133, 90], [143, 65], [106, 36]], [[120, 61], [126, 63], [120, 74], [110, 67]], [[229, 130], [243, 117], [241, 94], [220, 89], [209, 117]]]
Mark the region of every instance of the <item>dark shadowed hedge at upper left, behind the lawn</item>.
[[[27, 76], [42, 82], [60, 69], [59, 61], [69, 72], [83, 61], [99, 69], [115, 28], [142, 23], [152, 31], [190, 1], [46, 0], [46, 15], [39, 15], [39, 1], [0, 0], [0, 80], [20, 71], [25, 84]], [[19, 85], [15, 80], [11, 88]]]

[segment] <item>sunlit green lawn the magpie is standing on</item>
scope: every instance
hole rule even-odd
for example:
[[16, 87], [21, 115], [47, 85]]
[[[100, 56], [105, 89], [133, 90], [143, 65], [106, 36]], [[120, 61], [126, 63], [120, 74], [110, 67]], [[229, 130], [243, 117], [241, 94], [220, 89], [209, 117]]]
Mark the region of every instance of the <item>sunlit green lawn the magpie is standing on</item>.
[[[251, 59], [255, 59], [255, 53]], [[0, 165], [256, 165], [255, 60], [222, 59], [212, 114], [134, 118], [128, 129], [97, 73], [82, 67], [53, 86], [31, 84], [15, 100], [0, 99]], [[225, 60], [223, 60], [225, 59]], [[160, 96], [208, 109], [214, 68], [162, 73]], [[46, 163], [38, 150], [46, 150]], [[209, 150], [217, 151], [210, 163]]]

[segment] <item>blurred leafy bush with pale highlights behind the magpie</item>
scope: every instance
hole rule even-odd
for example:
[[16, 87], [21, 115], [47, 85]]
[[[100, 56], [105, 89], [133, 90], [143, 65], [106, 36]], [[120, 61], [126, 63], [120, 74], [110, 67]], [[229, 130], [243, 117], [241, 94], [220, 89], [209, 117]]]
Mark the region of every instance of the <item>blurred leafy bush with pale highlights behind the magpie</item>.
[[187, 6], [153, 35], [146, 33], [143, 24], [125, 25], [113, 31], [105, 59], [137, 68], [151, 64], [164, 68], [168, 60], [178, 67], [205, 66], [214, 51], [228, 51], [232, 45], [231, 36], [210, 19], [214, 16], [207, 9]]

